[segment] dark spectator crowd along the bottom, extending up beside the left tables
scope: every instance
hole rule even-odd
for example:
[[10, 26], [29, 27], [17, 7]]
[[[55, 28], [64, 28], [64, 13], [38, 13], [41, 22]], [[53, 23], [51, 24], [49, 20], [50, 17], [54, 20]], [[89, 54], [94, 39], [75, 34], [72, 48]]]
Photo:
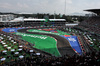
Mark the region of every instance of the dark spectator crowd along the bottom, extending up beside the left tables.
[[[19, 44], [23, 44], [25, 46], [24, 41], [18, 39], [20, 36], [16, 36], [14, 34], [5, 33], [0, 31], [5, 35], [9, 35], [13, 37], [13, 39], [17, 38], [16, 41]], [[29, 52], [32, 49], [30, 46], [26, 45], [28, 48], [24, 49], [24, 51]], [[55, 56], [47, 56], [44, 54], [36, 55], [34, 52], [30, 53], [29, 57], [13, 59], [9, 62], [2, 61], [0, 63], [2, 66], [100, 66], [100, 52], [92, 52], [86, 53], [84, 55], [75, 54], [72, 57], [68, 55], [64, 55], [62, 57]]]

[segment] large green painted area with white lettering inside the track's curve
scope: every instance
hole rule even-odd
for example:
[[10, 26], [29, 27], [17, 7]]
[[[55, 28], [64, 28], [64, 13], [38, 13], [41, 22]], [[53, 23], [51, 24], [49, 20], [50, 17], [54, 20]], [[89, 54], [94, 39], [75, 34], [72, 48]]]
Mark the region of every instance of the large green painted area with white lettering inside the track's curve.
[[34, 48], [43, 50], [57, 57], [61, 56], [57, 49], [57, 41], [52, 37], [45, 35], [38, 35], [38, 34], [19, 33], [19, 32], [15, 34], [21, 35], [23, 40], [35, 44], [35, 46], [33, 46]]

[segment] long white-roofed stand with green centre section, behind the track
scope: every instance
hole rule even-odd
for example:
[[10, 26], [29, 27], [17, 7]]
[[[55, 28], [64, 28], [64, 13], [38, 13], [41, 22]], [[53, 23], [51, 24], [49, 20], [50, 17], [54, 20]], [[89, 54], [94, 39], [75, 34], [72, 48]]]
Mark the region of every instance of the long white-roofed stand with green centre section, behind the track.
[[26, 26], [65, 26], [65, 22], [65, 19], [24, 19]]

